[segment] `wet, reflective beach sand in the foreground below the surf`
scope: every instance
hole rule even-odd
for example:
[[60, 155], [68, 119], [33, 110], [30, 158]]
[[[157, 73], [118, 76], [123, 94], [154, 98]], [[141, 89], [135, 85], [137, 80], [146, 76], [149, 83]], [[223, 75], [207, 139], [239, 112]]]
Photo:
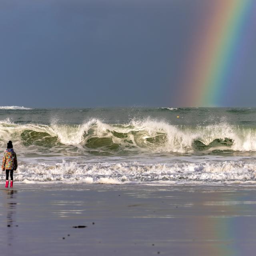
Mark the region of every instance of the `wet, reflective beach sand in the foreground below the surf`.
[[[15, 184], [1, 255], [254, 255], [255, 186]], [[79, 228], [78, 226], [86, 226]]]

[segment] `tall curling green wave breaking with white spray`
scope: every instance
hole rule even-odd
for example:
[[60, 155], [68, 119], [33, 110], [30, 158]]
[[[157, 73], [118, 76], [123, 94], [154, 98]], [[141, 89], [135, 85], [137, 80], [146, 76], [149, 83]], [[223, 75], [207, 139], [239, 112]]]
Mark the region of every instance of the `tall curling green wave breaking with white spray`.
[[0, 121], [0, 146], [4, 148], [8, 140], [18, 148], [75, 146], [96, 155], [256, 151], [255, 128], [226, 123], [178, 126], [151, 119], [132, 120], [127, 124], [106, 124], [91, 119], [80, 125], [14, 124], [7, 119]]

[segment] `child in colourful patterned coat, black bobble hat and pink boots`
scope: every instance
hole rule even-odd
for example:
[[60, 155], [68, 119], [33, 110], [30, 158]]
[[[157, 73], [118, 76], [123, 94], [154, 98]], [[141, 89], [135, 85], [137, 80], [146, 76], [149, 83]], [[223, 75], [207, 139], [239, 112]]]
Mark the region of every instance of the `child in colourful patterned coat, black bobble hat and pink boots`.
[[2, 162], [2, 171], [6, 171], [6, 184], [5, 187], [8, 188], [9, 185], [9, 172], [11, 176], [11, 188], [13, 186], [13, 171], [16, 171], [18, 167], [17, 163], [17, 156], [16, 153], [13, 151], [12, 142], [9, 141], [7, 143], [6, 152], [4, 152], [3, 162]]

